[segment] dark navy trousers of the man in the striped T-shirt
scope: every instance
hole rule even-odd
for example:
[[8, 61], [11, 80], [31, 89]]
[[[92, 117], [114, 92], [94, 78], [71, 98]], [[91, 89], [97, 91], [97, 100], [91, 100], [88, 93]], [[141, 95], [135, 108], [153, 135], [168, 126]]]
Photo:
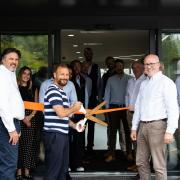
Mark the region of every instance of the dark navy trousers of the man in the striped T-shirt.
[[69, 164], [68, 134], [43, 132], [46, 174], [44, 180], [66, 180]]

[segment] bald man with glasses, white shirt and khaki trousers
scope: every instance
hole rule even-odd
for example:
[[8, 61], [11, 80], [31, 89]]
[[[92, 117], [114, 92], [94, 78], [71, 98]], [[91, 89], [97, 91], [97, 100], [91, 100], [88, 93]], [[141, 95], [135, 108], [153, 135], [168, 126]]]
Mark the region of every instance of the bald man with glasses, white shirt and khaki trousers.
[[140, 86], [131, 129], [137, 140], [136, 165], [140, 179], [151, 179], [151, 156], [156, 179], [167, 180], [166, 144], [172, 142], [179, 118], [176, 85], [160, 71], [158, 56], [146, 56], [144, 68], [148, 77]]

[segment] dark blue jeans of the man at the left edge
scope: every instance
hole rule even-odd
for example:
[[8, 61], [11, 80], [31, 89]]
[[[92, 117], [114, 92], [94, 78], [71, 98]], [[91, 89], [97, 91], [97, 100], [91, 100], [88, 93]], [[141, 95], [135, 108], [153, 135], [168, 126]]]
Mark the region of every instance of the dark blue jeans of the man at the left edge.
[[[14, 119], [14, 124], [19, 132], [19, 121]], [[14, 179], [17, 168], [18, 144], [9, 143], [9, 133], [0, 118], [0, 180]]]

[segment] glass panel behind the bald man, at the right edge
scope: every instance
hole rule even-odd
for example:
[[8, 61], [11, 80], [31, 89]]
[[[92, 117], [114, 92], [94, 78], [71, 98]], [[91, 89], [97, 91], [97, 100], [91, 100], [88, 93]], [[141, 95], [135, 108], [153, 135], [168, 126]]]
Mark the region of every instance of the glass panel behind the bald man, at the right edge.
[[[162, 61], [165, 65], [165, 74], [175, 80], [180, 74], [180, 33], [162, 33]], [[175, 133], [175, 141], [167, 146], [168, 170], [179, 170], [180, 164], [180, 133]]]

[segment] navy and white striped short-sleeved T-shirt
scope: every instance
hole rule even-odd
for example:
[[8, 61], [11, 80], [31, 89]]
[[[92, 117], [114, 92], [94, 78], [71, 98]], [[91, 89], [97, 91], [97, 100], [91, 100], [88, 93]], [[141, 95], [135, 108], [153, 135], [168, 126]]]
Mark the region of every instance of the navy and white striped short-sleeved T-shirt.
[[53, 106], [61, 105], [64, 108], [69, 108], [68, 98], [66, 93], [57, 85], [49, 86], [44, 97], [44, 127], [46, 132], [59, 132], [68, 134], [69, 117], [60, 118], [57, 116]]

